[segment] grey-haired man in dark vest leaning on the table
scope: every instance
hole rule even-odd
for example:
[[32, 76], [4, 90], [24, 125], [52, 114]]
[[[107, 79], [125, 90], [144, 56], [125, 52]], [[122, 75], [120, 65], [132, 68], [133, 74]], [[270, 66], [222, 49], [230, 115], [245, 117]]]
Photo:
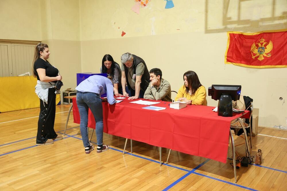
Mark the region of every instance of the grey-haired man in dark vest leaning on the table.
[[[144, 92], [150, 81], [150, 73], [146, 63], [140, 57], [129, 52], [121, 56], [121, 63], [123, 96], [130, 96], [129, 100], [144, 98]], [[126, 83], [130, 95], [125, 90]]]

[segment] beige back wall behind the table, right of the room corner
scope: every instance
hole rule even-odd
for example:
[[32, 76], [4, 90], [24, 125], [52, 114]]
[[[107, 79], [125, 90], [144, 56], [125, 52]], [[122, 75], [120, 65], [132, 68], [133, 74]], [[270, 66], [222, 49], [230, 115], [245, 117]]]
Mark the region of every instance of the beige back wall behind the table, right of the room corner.
[[[133, 1], [80, 1], [83, 72], [99, 72], [102, 56], [120, 62], [129, 51], [148, 69], [159, 67], [173, 90], [183, 73], [193, 70], [207, 89], [212, 84], [242, 85], [242, 95], [254, 99], [259, 125], [287, 129], [286, 68], [250, 69], [224, 65], [227, 31], [258, 32], [287, 28], [287, 2], [276, 1], [151, 1], [131, 11]], [[126, 35], [121, 37], [121, 32]], [[207, 97], [209, 106], [217, 101]]]

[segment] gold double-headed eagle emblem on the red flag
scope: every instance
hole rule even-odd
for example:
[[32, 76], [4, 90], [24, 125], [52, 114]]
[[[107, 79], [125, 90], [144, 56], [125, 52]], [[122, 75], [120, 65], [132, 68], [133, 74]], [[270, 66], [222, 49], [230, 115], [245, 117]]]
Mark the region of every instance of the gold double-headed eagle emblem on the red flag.
[[[258, 60], [263, 60], [264, 57], [263, 56], [266, 56], [266, 57], [270, 57], [271, 56], [271, 50], [273, 49], [273, 43], [272, 41], [270, 40], [269, 41], [269, 44], [267, 44], [267, 42], [264, 42], [265, 39], [261, 38], [259, 40], [259, 42], [257, 42], [256, 44], [258, 45], [258, 48], [257, 46], [255, 45], [255, 42], [253, 42], [252, 46], [251, 46], [251, 54], [252, 54], [252, 58], [255, 59], [255, 57], [258, 56]], [[265, 47], [265, 44], [267, 44], [267, 46]], [[253, 55], [253, 53], [255, 55]], [[269, 53], [269, 54], [268, 54]]]

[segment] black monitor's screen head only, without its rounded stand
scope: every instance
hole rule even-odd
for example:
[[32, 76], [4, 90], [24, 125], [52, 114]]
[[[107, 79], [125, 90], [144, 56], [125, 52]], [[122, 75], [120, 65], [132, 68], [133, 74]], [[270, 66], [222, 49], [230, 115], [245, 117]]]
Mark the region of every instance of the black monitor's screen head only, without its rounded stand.
[[220, 100], [222, 94], [229, 94], [233, 101], [239, 100], [241, 85], [212, 85], [208, 87], [208, 95], [214, 100]]

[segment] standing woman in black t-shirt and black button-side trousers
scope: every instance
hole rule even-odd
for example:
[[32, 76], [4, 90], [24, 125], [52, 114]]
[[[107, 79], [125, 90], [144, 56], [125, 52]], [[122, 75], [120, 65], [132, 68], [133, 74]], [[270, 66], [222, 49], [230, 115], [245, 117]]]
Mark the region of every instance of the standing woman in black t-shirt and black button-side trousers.
[[37, 44], [32, 65], [33, 76], [37, 77], [35, 92], [40, 98], [36, 145], [50, 145], [53, 144], [54, 140], [63, 139], [54, 130], [56, 90], [53, 87], [62, 77], [58, 75], [59, 70], [47, 61], [49, 55], [50, 52], [47, 44]]

